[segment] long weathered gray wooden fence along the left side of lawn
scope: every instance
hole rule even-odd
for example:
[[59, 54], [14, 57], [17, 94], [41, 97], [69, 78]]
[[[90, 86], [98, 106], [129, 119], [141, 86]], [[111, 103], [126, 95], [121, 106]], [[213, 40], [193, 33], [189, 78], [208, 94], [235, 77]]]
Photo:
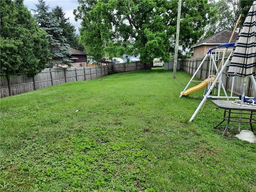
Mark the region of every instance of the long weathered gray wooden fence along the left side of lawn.
[[66, 82], [92, 80], [108, 74], [136, 71], [144, 68], [145, 64], [132, 62], [96, 67], [46, 68], [32, 78], [27, 77], [26, 74], [12, 76], [9, 79], [1, 76], [1, 98]]

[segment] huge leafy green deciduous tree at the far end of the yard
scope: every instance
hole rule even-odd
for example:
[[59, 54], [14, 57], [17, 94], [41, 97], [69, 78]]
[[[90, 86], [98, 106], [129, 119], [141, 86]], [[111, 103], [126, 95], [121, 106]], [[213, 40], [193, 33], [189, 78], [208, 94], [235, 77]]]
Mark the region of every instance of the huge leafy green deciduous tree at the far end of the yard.
[[[170, 60], [174, 53], [178, 1], [173, 0], [78, 0], [74, 10], [82, 20], [81, 42], [86, 52], [99, 59], [137, 55], [143, 62]], [[212, 16], [207, 0], [183, 0], [180, 40], [183, 48], [194, 44]], [[106, 47], [105, 47], [106, 42]]]

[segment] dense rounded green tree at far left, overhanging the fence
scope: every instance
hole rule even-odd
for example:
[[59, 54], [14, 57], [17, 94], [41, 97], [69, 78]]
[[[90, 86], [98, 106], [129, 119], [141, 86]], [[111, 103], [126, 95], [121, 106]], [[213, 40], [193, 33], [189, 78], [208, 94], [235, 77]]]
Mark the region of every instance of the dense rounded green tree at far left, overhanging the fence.
[[1, 76], [38, 74], [48, 63], [46, 32], [39, 28], [23, 1], [1, 0], [0, 5]]

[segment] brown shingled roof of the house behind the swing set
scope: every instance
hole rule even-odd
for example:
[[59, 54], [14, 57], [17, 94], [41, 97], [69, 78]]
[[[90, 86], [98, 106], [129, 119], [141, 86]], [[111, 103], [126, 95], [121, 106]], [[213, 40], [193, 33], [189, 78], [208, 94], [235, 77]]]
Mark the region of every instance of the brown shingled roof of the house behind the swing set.
[[[223, 29], [220, 32], [192, 45], [191, 48], [194, 48], [200, 45], [218, 45], [218, 44], [220, 45], [220, 44], [228, 43], [231, 35], [232, 35], [231, 30]], [[236, 42], [237, 38], [238, 38], [238, 32], [235, 32], [231, 42]]]

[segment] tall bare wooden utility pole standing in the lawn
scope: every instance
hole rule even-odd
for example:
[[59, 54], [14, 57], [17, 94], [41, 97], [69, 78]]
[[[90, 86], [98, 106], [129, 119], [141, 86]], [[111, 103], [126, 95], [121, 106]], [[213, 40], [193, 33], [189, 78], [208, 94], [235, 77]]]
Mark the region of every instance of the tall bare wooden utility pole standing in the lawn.
[[178, 50], [179, 50], [179, 37], [180, 37], [180, 12], [181, 12], [181, 0], [178, 2], [178, 16], [177, 16], [177, 29], [176, 29], [176, 44], [174, 52], [174, 66], [173, 66], [173, 78], [176, 79]]

